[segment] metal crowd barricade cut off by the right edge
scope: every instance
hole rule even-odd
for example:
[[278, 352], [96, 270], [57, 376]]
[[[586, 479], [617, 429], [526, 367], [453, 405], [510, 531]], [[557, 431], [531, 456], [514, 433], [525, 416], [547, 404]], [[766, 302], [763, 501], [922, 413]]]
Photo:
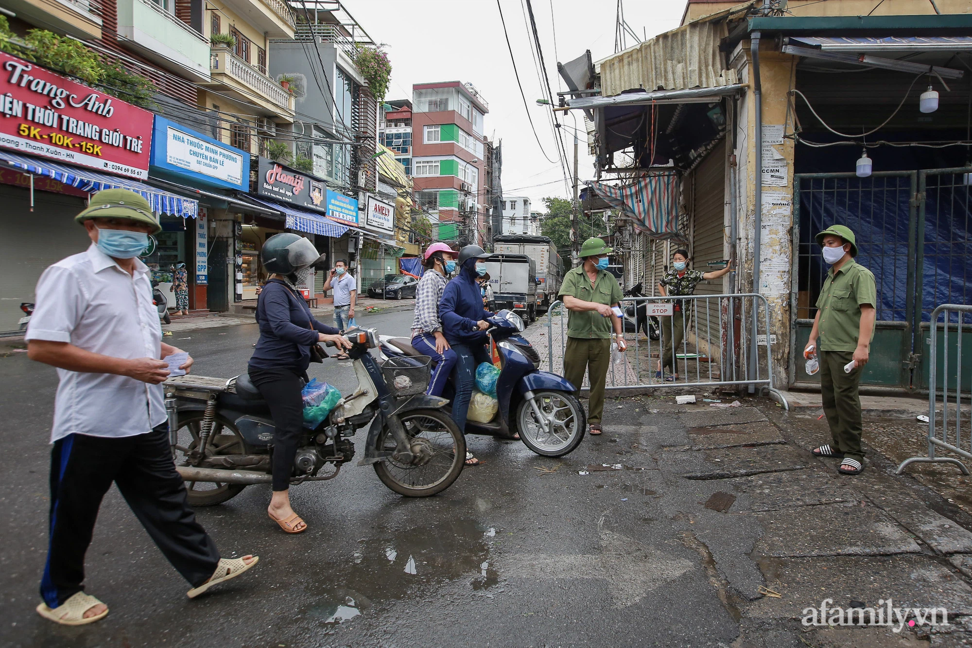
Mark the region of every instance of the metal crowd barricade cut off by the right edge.
[[[943, 321], [939, 316], [944, 314]], [[955, 315], [955, 323], [953, 323]], [[968, 468], [960, 459], [952, 456], [935, 456], [935, 449], [944, 449], [955, 454], [972, 459], [972, 410], [966, 408], [962, 412], [962, 330], [972, 333], [972, 321], [963, 322], [969, 316], [972, 319], [972, 306], [957, 304], [943, 304], [931, 311], [931, 326], [928, 330], [928, 455], [913, 456], [905, 459], [894, 471], [898, 475], [911, 463], [954, 463], [963, 475], [968, 475]], [[955, 357], [952, 358], [953, 347], [949, 344], [949, 333], [955, 331]], [[938, 338], [942, 337], [942, 371], [939, 383], [938, 371]], [[972, 385], [970, 385], [972, 386]], [[965, 387], [966, 392], [969, 386]], [[954, 397], [954, 398], [953, 398]], [[941, 425], [938, 422], [936, 408], [942, 408]], [[972, 407], [972, 406], [970, 406]], [[964, 428], [964, 437], [962, 435]]]

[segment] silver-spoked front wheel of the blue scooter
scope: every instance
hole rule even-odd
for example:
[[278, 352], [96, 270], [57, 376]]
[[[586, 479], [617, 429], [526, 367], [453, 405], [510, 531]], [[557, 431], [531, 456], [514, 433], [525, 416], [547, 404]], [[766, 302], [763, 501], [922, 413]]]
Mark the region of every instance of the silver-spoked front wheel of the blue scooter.
[[534, 392], [533, 399], [520, 403], [516, 420], [520, 439], [527, 448], [543, 456], [573, 452], [587, 430], [584, 408], [566, 391]]

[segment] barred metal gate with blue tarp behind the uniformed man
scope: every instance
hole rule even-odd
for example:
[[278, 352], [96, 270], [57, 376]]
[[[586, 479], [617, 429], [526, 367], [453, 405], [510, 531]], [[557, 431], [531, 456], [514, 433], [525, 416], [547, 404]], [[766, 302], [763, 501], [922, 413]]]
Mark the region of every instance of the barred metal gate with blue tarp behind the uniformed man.
[[943, 303], [969, 303], [972, 297], [968, 171], [887, 171], [867, 178], [853, 173], [795, 176], [791, 384], [818, 382], [818, 375], [808, 376], [799, 361], [828, 271], [816, 234], [840, 224], [856, 235], [856, 261], [874, 273], [878, 287], [875, 337], [861, 384], [927, 387], [931, 311]]

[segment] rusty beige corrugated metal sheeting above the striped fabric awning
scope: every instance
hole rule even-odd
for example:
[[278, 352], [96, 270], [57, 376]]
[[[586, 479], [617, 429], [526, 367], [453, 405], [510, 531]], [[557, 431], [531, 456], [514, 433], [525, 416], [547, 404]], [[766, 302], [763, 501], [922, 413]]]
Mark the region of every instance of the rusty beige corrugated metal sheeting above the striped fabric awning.
[[727, 35], [724, 20], [697, 20], [608, 56], [600, 61], [601, 93], [737, 84], [736, 71], [722, 69], [719, 41]]

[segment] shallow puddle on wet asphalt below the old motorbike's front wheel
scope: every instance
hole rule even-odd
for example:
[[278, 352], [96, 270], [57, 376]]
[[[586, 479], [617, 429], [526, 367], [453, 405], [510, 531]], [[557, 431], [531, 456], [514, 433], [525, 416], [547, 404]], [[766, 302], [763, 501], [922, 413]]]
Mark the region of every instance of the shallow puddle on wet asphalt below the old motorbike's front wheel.
[[305, 613], [336, 626], [362, 614], [371, 600], [414, 597], [429, 586], [470, 576], [474, 590], [490, 588], [499, 581], [489, 560], [488, 543], [495, 535], [493, 527], [460, 519], [362, 540], [346, 561], [314, 566], [316, 572], [329, 574], [332, 585], [309, 588], [318, 598]]

